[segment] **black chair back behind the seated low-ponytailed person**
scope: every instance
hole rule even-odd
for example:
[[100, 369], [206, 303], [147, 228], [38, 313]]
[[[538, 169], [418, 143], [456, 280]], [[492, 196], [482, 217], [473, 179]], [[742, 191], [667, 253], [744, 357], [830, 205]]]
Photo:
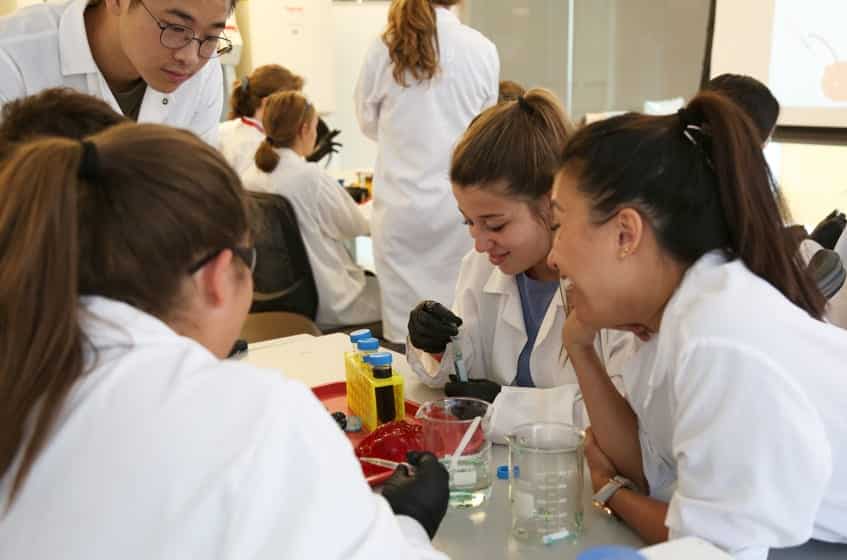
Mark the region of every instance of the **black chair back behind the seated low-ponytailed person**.
[[314, 321], [318, 288], [294, 208], [275, 194], [250, 192], [248, 197], [257, 253], [250, 313], [288, 311]]

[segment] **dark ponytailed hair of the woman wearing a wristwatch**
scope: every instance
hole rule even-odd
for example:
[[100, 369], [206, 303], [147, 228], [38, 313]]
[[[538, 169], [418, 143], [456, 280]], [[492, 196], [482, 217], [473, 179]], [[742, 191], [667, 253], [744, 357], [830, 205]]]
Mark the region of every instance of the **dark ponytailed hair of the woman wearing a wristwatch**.
[[571, 138], [560, 168], [590, 198], [595, 221], [634, 207], [678, 261], [721, 249], [821, 317], [825, 301], [785, 242], [758, 133], [723, 95], [701, 92], [676, 115], [594, 123]]

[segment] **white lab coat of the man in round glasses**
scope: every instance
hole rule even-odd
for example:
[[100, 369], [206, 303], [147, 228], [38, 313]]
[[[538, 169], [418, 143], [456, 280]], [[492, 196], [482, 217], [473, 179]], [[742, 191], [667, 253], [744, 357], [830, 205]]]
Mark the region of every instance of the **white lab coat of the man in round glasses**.
[[[87, 0], [37, 4], [0, 18], [0, 105], [53, 87], [69, 87], [106, 101], [121, 113], [94, 62], [83, 12]], [[217, 145], [223, 78], [210, 60], [172, 93], [148, 87], [138, 122], [186, 128]]]

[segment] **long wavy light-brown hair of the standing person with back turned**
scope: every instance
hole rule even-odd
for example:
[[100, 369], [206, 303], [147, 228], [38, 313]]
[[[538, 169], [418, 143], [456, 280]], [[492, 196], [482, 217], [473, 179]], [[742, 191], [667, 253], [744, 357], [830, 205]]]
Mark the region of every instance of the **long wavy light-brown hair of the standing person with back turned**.
[[406, 87], [406, 72], [417, 81], [438, 72], [438, 28], [435, 8], [459, 0], [394, 0], [388, 8], [388, 26], [382, 40], [394, 66], [394, 81]]

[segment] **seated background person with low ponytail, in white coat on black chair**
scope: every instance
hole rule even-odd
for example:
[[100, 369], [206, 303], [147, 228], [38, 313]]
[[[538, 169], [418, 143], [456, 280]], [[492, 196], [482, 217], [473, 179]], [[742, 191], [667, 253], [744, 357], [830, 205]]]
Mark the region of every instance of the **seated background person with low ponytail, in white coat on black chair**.
[[364, 214], [338, 181], [304, 158], [312, 153], [318, 114], [297, 92], [267, 98], [267, 137], [242, 176], [247, 189], [284, 196], [297, 224], [318, 289], [316, 322], [324, 328], [380, 319], [379, 282], [350, 257], [344, 241], [369, 232]]

